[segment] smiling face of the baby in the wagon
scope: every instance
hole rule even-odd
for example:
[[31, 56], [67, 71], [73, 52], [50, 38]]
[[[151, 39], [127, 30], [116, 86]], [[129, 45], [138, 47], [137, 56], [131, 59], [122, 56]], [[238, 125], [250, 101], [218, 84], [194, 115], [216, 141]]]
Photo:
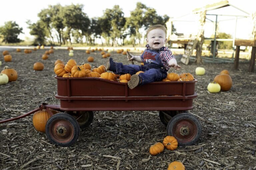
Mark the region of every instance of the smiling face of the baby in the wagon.
[[152, 49], [162, 48], [166, 41], [165, 32], [160, 28], [151, 30], [147, 35], [147, 43]]

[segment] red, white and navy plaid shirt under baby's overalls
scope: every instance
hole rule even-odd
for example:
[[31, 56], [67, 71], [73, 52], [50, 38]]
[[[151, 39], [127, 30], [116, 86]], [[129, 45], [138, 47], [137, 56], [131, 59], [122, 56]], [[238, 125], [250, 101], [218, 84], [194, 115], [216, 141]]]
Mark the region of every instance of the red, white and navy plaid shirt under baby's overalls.
[[[151, 49], [149, 45], [146, 45], [146, 47], [147, 47], [146, 49]], [[163, 66], [165, 67], [165, 69], [168, 71], [170, 69], [170, 67], [168, 66], [168, 61], [170, 61], [170, 59], [172, 59], [172, 58], [175, 59], [175, 57], [172, 55], [172, 51], [166, 46], [159, 48], [157, 51], [160, 51], [159, 58], [163, 64]], [[140, 55], [140, 58], [141, 58], [141, 55]], [[141, 58], [141, 60], [143, 60], [143, 59]]]

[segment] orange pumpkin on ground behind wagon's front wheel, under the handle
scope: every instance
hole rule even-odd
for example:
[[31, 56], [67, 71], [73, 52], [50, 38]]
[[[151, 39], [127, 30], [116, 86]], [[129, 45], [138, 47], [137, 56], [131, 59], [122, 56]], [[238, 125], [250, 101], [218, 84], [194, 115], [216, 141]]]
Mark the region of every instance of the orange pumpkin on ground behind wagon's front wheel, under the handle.
[[[49, 110], [52, 112], [52, 114], [58, 113], [58, 111], [56, 110], [53, 110], [53, 109], [49, 109]], [[51, 117], [50, 114], [45, 109], [34, 113], [33, 125], [36, 128], [36, 130], [45, 133], [45, 126], [50, 117]]]

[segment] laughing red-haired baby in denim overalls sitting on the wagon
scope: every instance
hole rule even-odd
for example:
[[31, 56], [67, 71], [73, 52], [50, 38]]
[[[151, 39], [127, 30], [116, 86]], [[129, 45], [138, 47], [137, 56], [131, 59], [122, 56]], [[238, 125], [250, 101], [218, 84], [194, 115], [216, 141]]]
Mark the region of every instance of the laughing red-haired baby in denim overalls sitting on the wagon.
[[[113, 71], [115, 74], [131, 74], [131, 80], [128, 81], [130, 89], [138, 85], [161, 81], [166, 78], [170, 67], [179, 70], [181, 67], [177, 64], [172, 52], [168, 47], [164, 46], [167, 41], [166, 33], [166, 28], [163, 25], [149, 27], [146, 39], [147, 48], [142, 55], [131, 55], [131, 58], [127, 56], [129, 60], [143, 62], [144, 66], [123, 65], [123, 63], [117, 63], [109, 57], [106, 63], [106, 70]], [[144, 71], [144, 73], [136, 74], [138, 71]]]

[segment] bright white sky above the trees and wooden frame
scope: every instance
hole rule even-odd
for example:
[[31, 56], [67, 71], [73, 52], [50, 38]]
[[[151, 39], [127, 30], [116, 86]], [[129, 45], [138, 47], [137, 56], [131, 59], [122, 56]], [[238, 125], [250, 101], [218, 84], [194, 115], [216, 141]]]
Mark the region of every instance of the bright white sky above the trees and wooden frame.
[[[220, 0], [5, 0], [1, 1], [1, 10], [0, 10], [0, 26], [3, 26], [7, 21], [15, 21], [20, 27], [23, 28], [24, 34], [19, 36], [20, 39], [25, 40], [27, 38], [32, 38], [33, 36], [29, 35], [28, 25], [26, 24], [27, 20], [31, 20], [32, 23], [35, 23], [39, 18], [37, 14], [42, 10], [48, 7], [48, 5], [61, 4], [62, 6], [73, 4], [83, 4], [83, 11], [88, 15], [89, 18], [92, 17], [101, 17], [103, 11], [107, 8], [113, 8], [114, 5], [119, 5], [124, 12], [125, 17], [130, 16], [130, 11], [133, 11], [136, 8], [136, 3], [141, 2], [147, 7], [154, 8], [157, 11], [158, 15], [168, 15], [169, 17], [178, 18], [179, 21], [174, 21], [174, 27], [178, 33], [184, 33], [185, 35], [197, 33], [198, 18], [196, 15], [186, 15], [190, 14], [195, 8], [203, 7], [207, 4], [212, 4], [219, 2]], [[160, 3], [157, 3], [160, 2]], [[229, 0], [229, 3], [252, 14], [256, 12], [256, 1], [254, 0]], [[221, 9], [208, 11], [207, 14], [224, 14], [224, 15], [247, 15], [246, 13], [240, 12], [239, 10], [229, 6]], [[181, 17], [180, 16], [184, 16]], [[207, 16], [208, 19], [215, 21], [215, 16]], [[230, 20], [232, 19], [232, 20]], [[232, 36], [235, 33], [235, 17], [224, 17], [218, 16], [219, 20], [219, 32], [225, 32], [231, 34]], [[252, 30], [251, 18], [243, 18], [237, 20], [236, 28], [236, 38], [239, 39], [249, 39]], [[214, 34], [214, 24], [207, 20], [205, 24], [205, 37], [210, 37]]]

